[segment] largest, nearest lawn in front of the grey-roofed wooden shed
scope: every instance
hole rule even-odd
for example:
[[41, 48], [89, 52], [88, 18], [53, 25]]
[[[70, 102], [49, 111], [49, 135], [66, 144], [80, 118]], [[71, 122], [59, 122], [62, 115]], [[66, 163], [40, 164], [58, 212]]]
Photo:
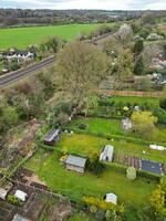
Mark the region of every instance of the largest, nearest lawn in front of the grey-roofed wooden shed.
[[102, 199], [106, 192], [114, 192], [118, 196], [118, 202], [134, 203], [142, 208], [143, 204], [147, 203], [153, 189], [157, 185], [155, 181], [148, 183], [145, 178], [131, 181], [125, 175], [108, 167], [100, 177], [87, 171], [80, 175], [68, 171], [59, 161], [56, 152], [43, 156], [44, 152], [40, 150], [24, 167], [34, 170], [53, 191], [65, 194], [73, 200], [82, 200], [83, 196], [94, 196]]

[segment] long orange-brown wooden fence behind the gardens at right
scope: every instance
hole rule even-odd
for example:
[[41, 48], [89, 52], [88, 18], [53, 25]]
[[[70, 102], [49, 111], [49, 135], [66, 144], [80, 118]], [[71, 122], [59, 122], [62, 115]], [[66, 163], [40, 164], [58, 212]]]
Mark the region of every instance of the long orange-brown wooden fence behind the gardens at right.
[[107, 96], [136, 96], [136, 97], [166, 97], [166, 92], [133, 92], [133, 91], [105, 91], [101, 90], [100, 94]]

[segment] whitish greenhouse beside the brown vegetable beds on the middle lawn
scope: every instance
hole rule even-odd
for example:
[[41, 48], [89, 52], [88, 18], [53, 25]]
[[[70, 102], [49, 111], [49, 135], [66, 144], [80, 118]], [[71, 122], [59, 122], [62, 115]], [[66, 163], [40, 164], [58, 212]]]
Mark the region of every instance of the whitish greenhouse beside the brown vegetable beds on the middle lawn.
[[100, 161], [112, 161], [113, 155], [114, 155], [114, 147], [111, 145], [106, 145], [100, 156]]

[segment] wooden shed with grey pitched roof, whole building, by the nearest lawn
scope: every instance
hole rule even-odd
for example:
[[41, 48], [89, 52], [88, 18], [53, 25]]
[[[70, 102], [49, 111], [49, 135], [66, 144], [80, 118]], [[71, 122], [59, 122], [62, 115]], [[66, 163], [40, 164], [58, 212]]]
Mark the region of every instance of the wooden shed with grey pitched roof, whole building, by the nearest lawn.
[[82, 157], [76, 157], [73, 155], [69, 155], [65, 160], [65, 167], [69, 170], [74, 170], [76, 172], [85, 171], [86, 159]]

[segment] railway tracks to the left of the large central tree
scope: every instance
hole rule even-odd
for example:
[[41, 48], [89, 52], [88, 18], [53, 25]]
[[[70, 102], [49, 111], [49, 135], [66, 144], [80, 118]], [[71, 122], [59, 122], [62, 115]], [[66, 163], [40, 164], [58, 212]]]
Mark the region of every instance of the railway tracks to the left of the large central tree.
[[27, 66], [23, 70], [18, 70], [18, 71], [15, 71], [11, 74], [7, 74], [4, 76], [1, 76], [0, 77], [0, 87], [8, 85], [12, 82], [15, 82], [20, 78], [23, 78], [24, 76], [28, 76], [33, 72], [40, 71], [43, 67], [53, 64], [54, 62], [55, 62], [55, 56], [50, 56], [50, 57], [48, 57], [48, 59], [45, 59], [45, 60], [43, 60], [39, 63]]

